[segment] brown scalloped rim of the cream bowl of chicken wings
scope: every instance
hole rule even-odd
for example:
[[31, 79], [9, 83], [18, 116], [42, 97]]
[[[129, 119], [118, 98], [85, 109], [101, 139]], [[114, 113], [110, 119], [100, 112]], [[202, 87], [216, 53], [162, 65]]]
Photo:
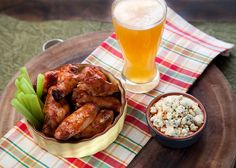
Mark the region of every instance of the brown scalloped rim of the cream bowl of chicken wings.
[[[69, 64], [62, 64], [60, 66], [58, 66], [57, 68], [55, 69], [58, 69], [60, 68], [61, 66], [65, 66], [65, 65], [69, 65]], [[71, 64], [71, 65], [76, 65], [76, 66], [80, 66], [82, 68], [85, 68], [87, 66], [96, 66], [98, 68], [100, 68], [102, 70], [103, 73], [105, 73], [105, 75], [110, 79], [110, 76], [115, 79], [115, 81], [117, 82], [118, 84], [118, 87], [119, 87], [119, 90], [120, 90], [120, 93], [121, 93], [121, 107], [120, 107], [120, 113], [119, 115], [115, 118], [114, 122], [112, 123], [112, 125], [108, 126], [103, 132], [99, 133], [99, 134], [96, 134], [94, 135], [93, 137], [91, 138], [84, 138], [84, 139], [81, 139], [81, 140], [66, 140], [66, 141], [61, 141], [61, 140], [57, 140], [53, 137], [47, 137], [46, 135], [44, 135], [41, 131], [38, 131], [30, 122], [28, 122], [28, 120], [26, 120], [26, 122], [28, 123], [29, 126], [32, 127], [32, 130], [34, 131], [34, 133], [36, 133], [38, 136], [42, 137], [43, 139], [47, 140], [47, 141], [53, 141], [53, 142], [58, 142], [58, 143], [69, 143], [69, 144], [75, 144], [75, 143], [81, 143], [81, 142], [87, 142], [87, 141], [91, 141], [95, 138], [97, 138], [98, 136], [101, 136], [101, 135], [104, 135], [108, 132], [108, 130], [110, 130], [112, 127], [114, 127], [117, 122], [119, 121], [119, 119], [121, 118], [122, 115], [124, 115], [124, 110], [125, 110], [125, 106], [127, 104], [127, 100], [126, 100], [126, 92], [125, 92], [125, 89], [121, 83], [121, 81], [116, 78], [112, 73], [110, 73], [109, 71], [105, 70], [104, 68], [100, 67], [100, 66], [97, 66], [97, 65], [92, 65], [92, 64], [80, 64], [80, 63], [75, 63], [75, 64]], [[52, 69], [52, 70], [55, 70], [55, 69]], [[48, 70], [50, 71], [50, 70]], [[47, 71], [45, 71], [47, 72]], [[123, 100], [123, 102], [122, 102]]]

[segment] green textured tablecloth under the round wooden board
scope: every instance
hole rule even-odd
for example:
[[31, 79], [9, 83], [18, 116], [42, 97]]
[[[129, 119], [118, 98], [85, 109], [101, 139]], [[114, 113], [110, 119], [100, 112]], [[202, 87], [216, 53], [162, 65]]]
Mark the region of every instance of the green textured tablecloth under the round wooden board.
[[[236, 44], [236, 23], [192, 24], [210, 35]], [[19, 67], [41, 52], [45, 41], [105, 30], [112, 30], [112, 25], [94, 21], [27, 22], [0, 15], [0, 94]], [[215, 62], [236, 91], [236, 48], [231, 53], [230, 57], [218, 57]]]

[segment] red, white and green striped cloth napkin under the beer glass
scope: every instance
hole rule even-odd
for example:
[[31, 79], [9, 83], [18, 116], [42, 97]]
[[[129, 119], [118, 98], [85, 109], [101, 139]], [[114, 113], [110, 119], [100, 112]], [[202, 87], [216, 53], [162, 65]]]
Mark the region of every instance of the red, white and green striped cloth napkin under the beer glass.
[[[233, 45], [219, 41], [193, 27], [168, 9], [167, 22], [156, 62], [160, 84], [146, 94], [127, 92], [128, 110], [123, 130], [106, 150], [93, 156], [62, 158], [34, 143], [24, 121], [0, 140], [0, 165], [4, 167], [126, 167], [150, 139], [145, 108], [153, 97], [165, 92], [186, 92], [207, 65]], [[86, 60], [120, 77], [122, 54], [116, 35], [108, 37]]]

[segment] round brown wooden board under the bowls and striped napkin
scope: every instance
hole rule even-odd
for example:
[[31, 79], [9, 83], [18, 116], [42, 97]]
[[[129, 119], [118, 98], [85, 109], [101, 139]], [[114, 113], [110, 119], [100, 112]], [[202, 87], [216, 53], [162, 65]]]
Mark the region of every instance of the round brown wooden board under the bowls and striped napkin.
[[[25, 66], [30, 76], [65, 63], [79, 63], [110, 32], [93, 33], [71, 38], [34, 57]], [[16, 74], [17, 75], [17, 74]], [[21, 116], [11, 107], [14, 80], [11, 79], [0, 101], [0, 136]], [[189, 91], [205, 106], [207, 128], [202, 138], [186, 149], [169, 149], [151, 139], [129, 165], [130, 167], [233, 167], [236, 158], [236, 97], [223, 74], [211, 64]]]

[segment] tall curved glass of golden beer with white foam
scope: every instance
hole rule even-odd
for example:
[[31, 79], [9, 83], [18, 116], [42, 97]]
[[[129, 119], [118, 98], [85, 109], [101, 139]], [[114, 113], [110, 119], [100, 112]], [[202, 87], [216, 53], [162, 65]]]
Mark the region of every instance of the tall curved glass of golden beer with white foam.
[[164, 0], [115, 0], [112, 21], [124, 57], [122, 83], [134, 93], [154, 89], [160, 79], [155, 57], [162, 39]]

